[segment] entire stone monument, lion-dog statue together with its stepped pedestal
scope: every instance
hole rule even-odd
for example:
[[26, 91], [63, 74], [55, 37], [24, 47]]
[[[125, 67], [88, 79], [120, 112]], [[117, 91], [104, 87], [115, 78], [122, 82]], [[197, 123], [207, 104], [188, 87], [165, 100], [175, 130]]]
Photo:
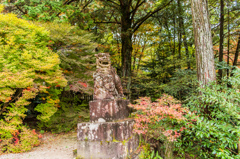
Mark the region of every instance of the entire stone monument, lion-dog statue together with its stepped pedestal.
[[123, 89], [109, 54], [100, 53], [96, 57], [90, 122], [78, 123], [77, 154], [84, 159], [136, 159], [133, 154], [139, 152], [136, 151], [139, 138], [133, 134], [134, 120], [127, 118], [129, 100], [119, 99]]

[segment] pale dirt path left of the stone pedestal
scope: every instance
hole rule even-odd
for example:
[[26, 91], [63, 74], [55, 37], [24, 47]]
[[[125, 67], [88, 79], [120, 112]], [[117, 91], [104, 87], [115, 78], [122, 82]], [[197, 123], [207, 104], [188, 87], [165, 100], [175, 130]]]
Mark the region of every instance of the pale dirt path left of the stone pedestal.
[[77, 133], [44, 133], [40, 146], [29, 152], [1, 155], [0, 159], [73, 159], [77, 149]]

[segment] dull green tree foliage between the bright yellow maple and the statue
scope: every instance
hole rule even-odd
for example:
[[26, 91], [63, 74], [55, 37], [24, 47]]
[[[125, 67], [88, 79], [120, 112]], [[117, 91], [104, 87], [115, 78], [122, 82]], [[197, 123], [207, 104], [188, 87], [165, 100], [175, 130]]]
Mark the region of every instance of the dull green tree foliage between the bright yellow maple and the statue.
[[61, 60], [60, 67], [69, 88], [74, 92], [93, 92], [93, 71], [96, 68], [93, 34], [71, 26], [69, 23], [39, 23], [35, 24], [49, 31], [49, 47], [56, 52]]

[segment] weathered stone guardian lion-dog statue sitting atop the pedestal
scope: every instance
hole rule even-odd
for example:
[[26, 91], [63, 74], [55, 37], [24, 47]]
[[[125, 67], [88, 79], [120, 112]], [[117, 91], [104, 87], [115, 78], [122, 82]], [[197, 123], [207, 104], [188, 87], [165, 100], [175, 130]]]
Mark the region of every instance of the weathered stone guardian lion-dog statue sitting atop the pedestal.
[[93, 99], [115, 99], [123, 97], [123, 89], [116, 70], [111, 66], [108, 53], [96, 54], [97, 70], [93, 74]]

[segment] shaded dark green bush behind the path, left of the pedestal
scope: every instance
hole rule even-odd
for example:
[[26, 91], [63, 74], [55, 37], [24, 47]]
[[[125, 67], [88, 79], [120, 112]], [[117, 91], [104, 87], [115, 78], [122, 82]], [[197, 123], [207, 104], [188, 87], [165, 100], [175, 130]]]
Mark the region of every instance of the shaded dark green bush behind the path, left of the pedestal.
[[62, 92], [60, 108], [47, 122], [40, 122], [40, 129], [53, 133], [68, 132], [76, 128], [77, 123], [89, 120], [88, 103], [72, 92]]

